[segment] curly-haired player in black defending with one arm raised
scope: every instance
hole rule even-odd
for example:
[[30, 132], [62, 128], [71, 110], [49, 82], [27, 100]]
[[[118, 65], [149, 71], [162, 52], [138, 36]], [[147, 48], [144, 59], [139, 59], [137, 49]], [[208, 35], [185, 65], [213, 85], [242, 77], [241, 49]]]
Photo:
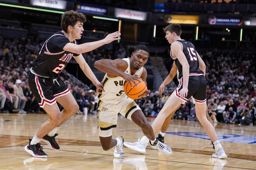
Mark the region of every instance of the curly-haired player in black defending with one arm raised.
[[[35, 60], [29, 73], [29, 87], [49, 116], [38, 130], [33, 139], [29, 139], [29, 144], [25, 146], [25, 151], [34, 157], [47, 158], [43, 152], [40, 142], [46, 142], [55, 150], [59, 145], [55, 142], [58, 135], [57, 128], [73, 116], [79, 109], [76, 100], [70, 93], [65, 83], [59, 78], [59, 73], [65, 68], [72, 57], [77, 61], [85, 75], [97, 87], [97, 92], [103, 90], [101, 84], [90, 67], [86, 63], [81, 53], [89, 52], [104, 44], [111, 43], [121, 34], [111, 33], [103, 40], [84, 43], [78, 45], [76, 39], [81, 39], [83, 23], [86, 21], [85, 15], [76, 11], [67, 11], [61, 17], [62, 31], [50, 36], [43, 44], [38, 58]], [[63, 106], [60, 111], [56, 101]]]

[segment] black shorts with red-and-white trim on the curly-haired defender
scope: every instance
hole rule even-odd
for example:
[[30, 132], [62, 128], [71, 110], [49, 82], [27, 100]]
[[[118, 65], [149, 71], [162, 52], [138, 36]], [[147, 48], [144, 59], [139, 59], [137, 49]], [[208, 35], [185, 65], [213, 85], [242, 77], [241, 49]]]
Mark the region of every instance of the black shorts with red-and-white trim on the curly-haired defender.
[[40, 107], [44, 107], [45, 104], [53, 105], [56, 103], [55, 98], [70, 92], [61, 78], [45, 78], [31, 72], [29, 73], [29, 87]]

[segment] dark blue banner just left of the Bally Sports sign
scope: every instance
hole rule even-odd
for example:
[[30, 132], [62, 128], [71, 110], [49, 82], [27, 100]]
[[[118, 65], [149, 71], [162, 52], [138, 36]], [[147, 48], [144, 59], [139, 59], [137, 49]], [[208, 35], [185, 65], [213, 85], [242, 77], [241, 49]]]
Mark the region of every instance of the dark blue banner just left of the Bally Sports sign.
[[107, 13], [107, 8], [105, 7], [101, 7], [97, 5], [86, 5], [81, 3], [77, 3], [75, 10], [80, 12], [102, 14], [102, 15], [105, 15]]

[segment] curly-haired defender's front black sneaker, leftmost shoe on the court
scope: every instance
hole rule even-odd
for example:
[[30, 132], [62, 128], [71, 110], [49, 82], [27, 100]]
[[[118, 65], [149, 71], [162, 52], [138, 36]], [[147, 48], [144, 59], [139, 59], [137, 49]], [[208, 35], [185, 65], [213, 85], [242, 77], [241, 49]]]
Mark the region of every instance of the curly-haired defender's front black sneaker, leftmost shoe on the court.
[[37, 143], [35, 145], [30, 145], [30, 142], [32, 139], [29, 139], [29, 144], [25, 146], [25, 151], [30, 153], [34, 157], [38, 158], [47, 158], [48, 156], [43, 151], [43, 147], [41, 146], [41, 143]]

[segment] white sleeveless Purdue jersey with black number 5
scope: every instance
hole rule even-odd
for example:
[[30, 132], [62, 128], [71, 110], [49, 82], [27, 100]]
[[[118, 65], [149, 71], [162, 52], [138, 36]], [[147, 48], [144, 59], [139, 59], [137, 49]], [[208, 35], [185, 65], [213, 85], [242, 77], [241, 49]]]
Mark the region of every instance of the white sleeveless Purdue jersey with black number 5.
[[[123, 58], [128, 63], [128, 67], [124, 73], [131, 74], [130, 71], [130, 58]], [[141, 77], [143, 67], [137, 70], [133, 75]], [[122, 77], [108, 77], [107, 73], [103, 79], [104, 91], [98, 94], [99, 100], [107, 103], [119, 103], [127, 98], [124, 92], [125, 80]]]

